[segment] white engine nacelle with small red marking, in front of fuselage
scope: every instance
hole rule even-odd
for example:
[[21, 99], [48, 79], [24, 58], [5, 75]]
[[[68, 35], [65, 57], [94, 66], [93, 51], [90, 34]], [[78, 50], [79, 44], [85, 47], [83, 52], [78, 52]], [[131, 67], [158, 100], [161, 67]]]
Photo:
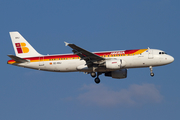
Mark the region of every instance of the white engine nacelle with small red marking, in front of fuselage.
[[121, 59], [110, 59], [106, 60], [107, 69], [120, 69], [125, 66], [125, 61]]

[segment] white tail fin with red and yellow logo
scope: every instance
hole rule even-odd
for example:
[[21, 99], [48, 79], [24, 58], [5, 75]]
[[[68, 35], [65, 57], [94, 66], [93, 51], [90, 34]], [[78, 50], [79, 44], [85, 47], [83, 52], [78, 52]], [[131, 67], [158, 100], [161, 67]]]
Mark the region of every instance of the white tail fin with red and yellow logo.
[[9, 32], [16, 56], [20, 58], [41, 56], [19, 32]]

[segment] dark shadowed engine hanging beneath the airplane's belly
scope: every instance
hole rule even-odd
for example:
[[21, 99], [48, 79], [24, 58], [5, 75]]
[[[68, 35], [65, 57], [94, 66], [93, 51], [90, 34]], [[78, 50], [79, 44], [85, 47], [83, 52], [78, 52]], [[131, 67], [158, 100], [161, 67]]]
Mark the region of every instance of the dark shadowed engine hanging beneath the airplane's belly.
[[127, 69], [116, 70], [112, 72], [106, 72], [105, 76], [122, 79], [127, 77]]

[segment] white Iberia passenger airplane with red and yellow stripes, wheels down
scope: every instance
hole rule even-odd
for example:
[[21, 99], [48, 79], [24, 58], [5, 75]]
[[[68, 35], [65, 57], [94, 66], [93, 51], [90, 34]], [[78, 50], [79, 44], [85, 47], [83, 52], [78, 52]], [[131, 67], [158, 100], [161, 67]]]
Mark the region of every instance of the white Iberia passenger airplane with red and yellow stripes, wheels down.
[[116, 50], [89, 52], [75, 44], [65, 43], [72, 48], [71, 54], [39, 54], [17, 31], [9, 32], [16, 55], [8, 55], [7, 63], [24, 68], [52, 72], [84, 72], [90, 74], [95, 83], [100, 83], [99, 75], [122, 79], [127, 77], [127, 69], [149, 67], [153, 77], [153, 67], [170, 64], [174, 58], [158, 49]]

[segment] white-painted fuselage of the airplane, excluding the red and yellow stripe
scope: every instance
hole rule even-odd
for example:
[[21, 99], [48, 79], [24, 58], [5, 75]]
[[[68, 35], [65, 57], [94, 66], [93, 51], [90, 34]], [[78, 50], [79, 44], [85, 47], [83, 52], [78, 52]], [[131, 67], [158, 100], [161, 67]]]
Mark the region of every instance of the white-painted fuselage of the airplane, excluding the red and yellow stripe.
[[[164, 53], [161, 50], [157, 49], [149, 49], [149, 51], [145, 51], [138, 55], [126, 55], [126, 56], [115, 56], [115, 57], [105, 57], [106, 59], [121, 59], [125, 62], [124, 68], [141, 68], [141, 67], [149, 67], [149, 66], [161, 66], [166, 65], [174, 61], [174, 58]], [[46, 56], [41, 56], [42, 60], [37, 62], [26, 62], [26, 63], [17, 63], [14, 65], [27, 67], [38, 70], [45, 71], [54, 71], [54, 72], [92, 72], [93, 68], [88, 68], [86, 66], [86, 62], [84, 60], [78, 59], [67, 59], [67, 60], [49, 60], [43, 61]], [[50, 57], [50, 56], [48, 56]], [[113, 69], [114, 70], [114, 69]], [[97, 72], [106, 72], [113, 71], [112, 69], [106, 69], [105, 67], [100, 67], [97, 69]]]

